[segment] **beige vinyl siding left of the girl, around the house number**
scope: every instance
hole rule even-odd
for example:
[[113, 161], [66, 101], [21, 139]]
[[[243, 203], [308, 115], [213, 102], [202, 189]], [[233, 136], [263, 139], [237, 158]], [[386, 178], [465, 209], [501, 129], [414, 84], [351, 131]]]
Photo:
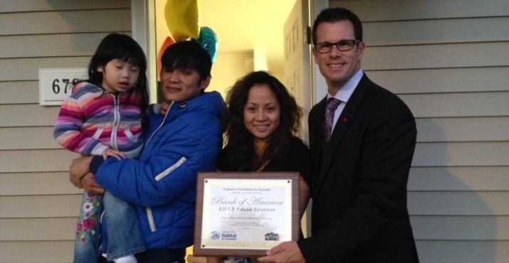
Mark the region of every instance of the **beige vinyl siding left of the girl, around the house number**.
[[131, 33], [130, 0], [0, 1], [0, 262], [72, 262], [78, 156], [53, 139], [39, 68], [85, 68], [110, 32]]

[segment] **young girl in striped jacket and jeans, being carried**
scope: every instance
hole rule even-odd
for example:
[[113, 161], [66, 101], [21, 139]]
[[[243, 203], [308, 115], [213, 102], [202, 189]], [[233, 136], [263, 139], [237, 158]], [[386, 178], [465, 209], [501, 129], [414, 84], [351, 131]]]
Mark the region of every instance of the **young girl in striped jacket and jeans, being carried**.
[[[106, 36], [90, 60], [89, 79], [75, 85], [61, 106], [53, 130], [56, 141], [83, 155], [137, 157], [149, 100], [146, 69], [145, 54], [132, 38]], [[100, 221], [109, 225], [102, 235]], [[99, 248], [100, 238], [106, 237], [107, 248]], [[83, 193], [74, 262], [97, 262], [99, 251], [114, 262], [136, 262], [134, 254], [144, 250], [136, 213], [129, 204], [107, 192]]]

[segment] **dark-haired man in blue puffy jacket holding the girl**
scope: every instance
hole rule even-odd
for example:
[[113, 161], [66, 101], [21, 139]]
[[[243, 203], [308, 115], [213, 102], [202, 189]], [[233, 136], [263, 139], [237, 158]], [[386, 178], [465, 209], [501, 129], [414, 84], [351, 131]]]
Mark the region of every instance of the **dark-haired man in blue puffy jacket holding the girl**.
[[224, 101], [218, 92], [204, 92], [210, 70], [209, 53], [198, 43], [170, 45], [162, 55], [160, 84], [169, 107], [166, 114], [151, 107], [140, 157], [85, 156], [70, 166], [75, 186], [107, 190], [134, 205], [147, 247], [136, 255], [139, 262], [184, 262], [193, 243], [196, 174], [215, 171], [222, 146]]

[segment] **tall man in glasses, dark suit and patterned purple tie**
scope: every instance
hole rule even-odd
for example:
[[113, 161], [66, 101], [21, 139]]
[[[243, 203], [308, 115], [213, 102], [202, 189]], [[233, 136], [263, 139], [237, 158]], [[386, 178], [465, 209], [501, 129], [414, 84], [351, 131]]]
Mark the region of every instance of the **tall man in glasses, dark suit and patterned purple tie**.
[[414, 117], [362, 71], [362, 25], [351, 11], [322, 11], [313, 45], [328, 92], [309, 115], [312, 236], [283, 242], [260, 260], [419, 262], [406, 209]]

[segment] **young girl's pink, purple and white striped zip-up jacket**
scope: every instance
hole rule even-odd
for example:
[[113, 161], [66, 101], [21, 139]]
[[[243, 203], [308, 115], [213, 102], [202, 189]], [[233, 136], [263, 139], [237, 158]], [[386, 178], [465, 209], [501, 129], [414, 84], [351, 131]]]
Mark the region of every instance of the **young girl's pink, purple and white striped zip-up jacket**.
[[112, 148], [136, 157], [143, 146], [140, 97], [107, 93], [88, 82], [78, 86], [63, 102], [53, 128], [58, 144], [83, 155]]

